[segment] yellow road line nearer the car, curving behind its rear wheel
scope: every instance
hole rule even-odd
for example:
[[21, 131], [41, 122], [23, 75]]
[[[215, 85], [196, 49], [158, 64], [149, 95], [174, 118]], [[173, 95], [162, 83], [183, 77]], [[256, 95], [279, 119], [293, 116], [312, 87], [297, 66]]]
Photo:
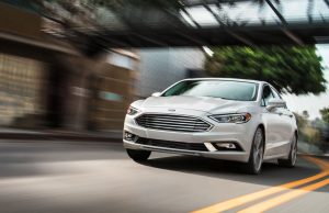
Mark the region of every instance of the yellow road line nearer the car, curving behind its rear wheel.
[[307, 160], [316, 164], [319, 168], [321, 168], [321, 172], [319, 172], [315, 176], [308, 177], [308, 178], [304, 178], [304, 179], [300, 179], [300, 180], [287, 182], [287, 183], [284, 183], [284, 184], [281, 184], [281, 186], [272, 187], [272, 188], [269, 188], [269, 189], [265, 189], [265, 190], [262, 190], [262, 191], [249, 193], [249, 194], [241, 195], [241, 197], [238, 197], [238, 198], [234, 198], [234, 199], [230, 199], [230, 200], [211, 205], [208, 208], [204, 208], [204, 209], [201, 209], [201, 210], [193, 211], [192, 213], [215, 213], [215, 212], [217, 213], [217, 212], [223, 212], [223, 211], [230, 210], [232, 208], [237, 208], [239, 205], [249, 203], [251, 201], [256, 201], [258, 199], [265, 198], [265, 197], [269, 197], [269, 195], [272, 195], [272, 194], [275, 194], [275, 193], [288, 190], [288, 189], [293, 189], [293, 188], [296, 188], [298, 186], [302, 186], [302, 184], [305, 184], [305, 183], [308, 183], [308, 182], [311, 182], [311, 181], [315, 181], [315, 180], [318, 180], [318, 179], [324, 178], [324, 177], [329, 175], [329, 171], [327, 170], [327, 162], [325, 162], [320, 159], [316, 159], [314, 157], [305, 157], [305, 158]]

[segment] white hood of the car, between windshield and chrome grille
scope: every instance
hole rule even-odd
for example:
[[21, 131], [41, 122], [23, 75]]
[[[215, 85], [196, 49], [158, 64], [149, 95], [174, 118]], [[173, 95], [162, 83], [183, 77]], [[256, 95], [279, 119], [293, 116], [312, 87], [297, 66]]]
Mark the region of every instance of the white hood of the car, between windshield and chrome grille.
[[250, 105], [247, 101], [231, 101], [220, 98], [209, 97], [150, 97], [146, 99], [141, 107], [147, 108], [167, 108], [167, 109], [184, 109], [197, 110], [208, 113], [227, 113], [238, 112]]

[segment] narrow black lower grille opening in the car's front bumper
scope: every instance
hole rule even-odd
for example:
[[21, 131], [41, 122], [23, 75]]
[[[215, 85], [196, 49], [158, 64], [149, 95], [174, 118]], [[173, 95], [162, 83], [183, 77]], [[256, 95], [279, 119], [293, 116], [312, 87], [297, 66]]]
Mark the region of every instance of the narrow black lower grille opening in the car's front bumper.
[[148, 139], [144, 137], [139, 137], [136, 141], [136, 143], [143, 145], [149, 145], [149, 146], [164, 147], [164, 148], [208, 152], [206, 146], [202, 143], [170, 142], [170, 141], [162, 141], [162, 139]]

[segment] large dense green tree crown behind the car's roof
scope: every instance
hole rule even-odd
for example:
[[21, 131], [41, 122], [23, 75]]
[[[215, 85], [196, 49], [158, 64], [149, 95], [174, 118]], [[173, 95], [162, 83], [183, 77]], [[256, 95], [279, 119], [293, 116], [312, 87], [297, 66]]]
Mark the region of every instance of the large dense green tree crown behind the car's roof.
[[264, 80], [281, 92], [326, 91], [321, 58], [315, 46], [218, 47], [205, 69], [216, 77]]

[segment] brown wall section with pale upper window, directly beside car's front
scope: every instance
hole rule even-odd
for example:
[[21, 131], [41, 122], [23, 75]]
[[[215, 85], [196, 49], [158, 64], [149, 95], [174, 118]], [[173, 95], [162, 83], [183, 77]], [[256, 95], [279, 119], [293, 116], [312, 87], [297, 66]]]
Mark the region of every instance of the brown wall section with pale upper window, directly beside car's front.
[[136, 97], [138, 56], [113, 49], [107, 63], [91, 81], [89, 130], [122, 131], [128, 105]]

